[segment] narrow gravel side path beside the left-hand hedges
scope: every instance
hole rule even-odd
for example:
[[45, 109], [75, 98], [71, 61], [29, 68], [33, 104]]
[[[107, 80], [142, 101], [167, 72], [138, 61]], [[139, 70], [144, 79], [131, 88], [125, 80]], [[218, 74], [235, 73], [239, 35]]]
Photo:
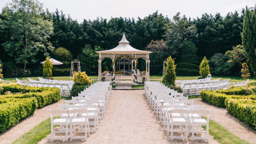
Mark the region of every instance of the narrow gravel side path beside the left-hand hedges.
[[42, 121], [50, 117], [49, 109], [57, 109], [58, 104], [64, 104], [64, 100], [60, 100], [57, 103], [45, 106], [41, 109], [37, 109], [35, 113], [19, 122], [12, 129], [6, 131], [0, 135], [0, 143], [12, 143], [15, 139], [28, 132], [36, 125], [40, 124]]

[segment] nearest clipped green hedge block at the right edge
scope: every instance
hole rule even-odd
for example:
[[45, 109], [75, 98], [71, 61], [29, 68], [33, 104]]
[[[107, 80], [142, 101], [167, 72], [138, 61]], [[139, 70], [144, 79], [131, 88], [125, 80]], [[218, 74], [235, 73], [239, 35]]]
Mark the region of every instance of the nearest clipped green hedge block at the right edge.
[[245, 124], [256, 129], [256, 101], [248, 99], [229, 99], [225, 102], [227, 111]]

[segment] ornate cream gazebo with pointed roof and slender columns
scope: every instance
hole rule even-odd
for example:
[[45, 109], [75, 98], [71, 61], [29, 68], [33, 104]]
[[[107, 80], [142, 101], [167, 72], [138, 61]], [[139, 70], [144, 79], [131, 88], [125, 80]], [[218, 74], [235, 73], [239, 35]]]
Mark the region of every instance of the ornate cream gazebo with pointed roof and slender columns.
[[99, 69], [98, 69], [98, 80], [101, 81], [101, 62], [104, 58], [110, 58], [112, 59], [113, 62], [113, 76], [115, 75], [115, 62], [118, 58], [120, 57], [129, 57], [132, 60], [132, 69], [134, 67], [136, 67], [136, 63], [138, 58], [142, 58], [145, 60], [146, 62], [146, 81], [150, 81], [150, 54], [153, 52], [148, 52], [148, 51], [141, 51], [141, 50], [137, 50], [134, 47], [132, 47], [130, 44], [130, 42], [127, 41], [124, 33], [123, 33], [123, 37], [121, 39], [121, 41], [119, 41], [119, 44], [111, 50], [106, 50], [106, 51], [98, 51], [96, 53], [99, 54]]

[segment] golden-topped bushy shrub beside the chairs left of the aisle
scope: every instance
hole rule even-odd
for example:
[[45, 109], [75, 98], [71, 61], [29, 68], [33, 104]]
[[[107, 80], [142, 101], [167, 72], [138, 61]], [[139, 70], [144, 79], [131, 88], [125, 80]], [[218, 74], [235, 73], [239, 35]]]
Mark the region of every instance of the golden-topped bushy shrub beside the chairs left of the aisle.
[[78, 96], [78, 93], [92, 84], [92, 81], [86, 74], [86, 71], [78, 71], [74, 74], [74, 85], [72, 86], [71, 95]]

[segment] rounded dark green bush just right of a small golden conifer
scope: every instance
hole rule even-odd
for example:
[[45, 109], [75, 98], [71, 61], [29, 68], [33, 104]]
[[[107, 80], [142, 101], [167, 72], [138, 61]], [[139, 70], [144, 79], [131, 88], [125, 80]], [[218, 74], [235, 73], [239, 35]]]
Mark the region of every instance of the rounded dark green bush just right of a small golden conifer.
[[226, 55], [216, 53], [209, 60], [210, 71], [213, 75], [227, 76], [230, 75], [228, 58]]

